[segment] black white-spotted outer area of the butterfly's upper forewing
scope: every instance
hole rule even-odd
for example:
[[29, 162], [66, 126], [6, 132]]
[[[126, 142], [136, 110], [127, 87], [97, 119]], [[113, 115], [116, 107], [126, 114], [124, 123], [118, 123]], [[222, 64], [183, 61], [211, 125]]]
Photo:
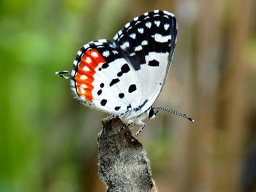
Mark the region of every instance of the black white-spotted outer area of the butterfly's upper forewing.
[[[118, 31], [113, 40], [121, 48], [124, 58], [131, 62], [135, 70], [139, 70], [140, 65], [146, 64], [148, 53], [173, 55], [176, 38], [176, 18], [169, 12], [158, 11], [136, 17]], [[142, 42], [146, 42], [146, 45], [142, 45]], [[136, 51], [138, 46], [143, 46], [143, 50]]]

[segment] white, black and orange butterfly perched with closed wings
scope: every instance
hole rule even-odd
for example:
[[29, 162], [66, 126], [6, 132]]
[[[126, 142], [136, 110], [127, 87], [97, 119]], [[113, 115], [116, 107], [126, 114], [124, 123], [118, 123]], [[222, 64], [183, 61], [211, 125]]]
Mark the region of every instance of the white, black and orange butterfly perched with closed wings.
[[[145, 12], [113, 37], [89, 42], [78, 50], [71, 72], [56, 72], [70, 79], [71, 90], [82, 104], [118, 116], [128, 125], [146, 126], [156, 109], [187, 115], [165, 107], [152, 107], [162, 91], [177, 42], [175, 16], [167, 11]], [[70, 74], [70, 77], [64, 74]]]

